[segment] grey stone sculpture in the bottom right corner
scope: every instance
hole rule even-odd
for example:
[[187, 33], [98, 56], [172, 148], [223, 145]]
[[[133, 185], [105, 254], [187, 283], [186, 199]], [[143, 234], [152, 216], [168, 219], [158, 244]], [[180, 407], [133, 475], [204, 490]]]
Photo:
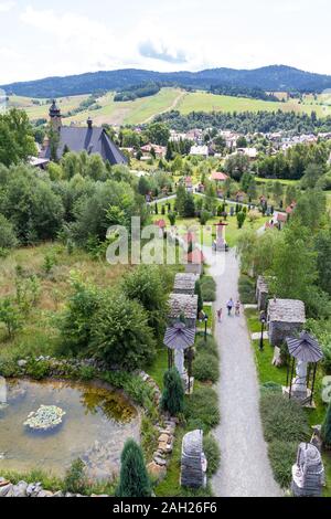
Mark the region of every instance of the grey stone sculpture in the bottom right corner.
[[320, 497], [324, 484], [324, 466], [319, 449], [310, 443], [301, 443], [297, 463], [292, 467], [295, 497]]

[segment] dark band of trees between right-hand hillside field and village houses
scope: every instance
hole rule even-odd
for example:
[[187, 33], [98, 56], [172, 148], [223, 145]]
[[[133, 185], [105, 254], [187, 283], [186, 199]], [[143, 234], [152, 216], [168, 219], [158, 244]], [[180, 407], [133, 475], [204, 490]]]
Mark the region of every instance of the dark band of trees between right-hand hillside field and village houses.
[[156, 117], [154, 121], [164, 123], [177, 131], [193, 128], [222, 128], [242, 134], [288, 131], [296, 135], [331, 131], [331, 117], [318, 119], [317, 114], [297, 114], [295, 112], [192, 112], [181, 115], [178, 110]]

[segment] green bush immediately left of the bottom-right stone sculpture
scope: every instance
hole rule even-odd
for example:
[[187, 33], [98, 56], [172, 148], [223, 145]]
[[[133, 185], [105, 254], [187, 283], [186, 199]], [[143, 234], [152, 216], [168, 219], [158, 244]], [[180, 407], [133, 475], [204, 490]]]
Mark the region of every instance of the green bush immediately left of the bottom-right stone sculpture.
[[269, 444], [268, 453], [276, 481], [281, 488], [288, 488], [292, 479], [292, 466], [297, 459], [298, 443], [275, 439]]

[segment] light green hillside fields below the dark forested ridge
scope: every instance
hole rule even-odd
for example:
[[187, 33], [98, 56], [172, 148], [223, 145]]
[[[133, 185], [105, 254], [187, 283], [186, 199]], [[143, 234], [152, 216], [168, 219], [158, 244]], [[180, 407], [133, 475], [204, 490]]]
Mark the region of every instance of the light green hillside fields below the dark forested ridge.
[[[57, 99], [63, 115], [79, 106], [88, 96], [61, 97]], [[11, 96], [9, 106], [26, 110], [31, 120], [47, 118], [50, 99], [30, 99], [28, 97]], [[64, 124], [85, 124], [88, 115], [96, 125], [138, 125], [149, 123], [156, 115], [178, 109], [181, 114], [190, 112], [297, 112], [311, 114], [316, 112], [319, 117], [331, 114], [331, 95], [321, 94], [317, 97], [307, 95], [303, 100], [288, 99], [284, 103], [265, 102], [245, 97], [231, 97], [214, 95], [206, 92], [188, 93], [180, 88], [162, 88], [158, 94], [139, 98], [132, 102], [114, 102], [114, 93], [109, 92], [97, 99], [100, 108], [84, 110], [73, 117], [64, 117]]]

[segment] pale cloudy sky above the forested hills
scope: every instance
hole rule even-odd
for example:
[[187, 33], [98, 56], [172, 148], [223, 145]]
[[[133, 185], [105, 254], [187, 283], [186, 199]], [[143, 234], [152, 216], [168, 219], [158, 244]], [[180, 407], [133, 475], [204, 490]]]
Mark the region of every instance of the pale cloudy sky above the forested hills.
[[0, 84], [116, 68], [331, 75], [330, 0], [0, 0]]

